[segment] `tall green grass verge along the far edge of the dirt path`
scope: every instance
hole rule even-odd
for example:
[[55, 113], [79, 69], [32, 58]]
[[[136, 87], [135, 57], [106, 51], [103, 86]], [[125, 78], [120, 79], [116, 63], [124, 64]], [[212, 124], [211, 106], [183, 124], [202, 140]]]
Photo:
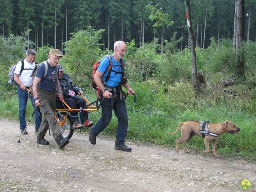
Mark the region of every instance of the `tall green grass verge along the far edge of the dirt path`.
[[[128, 111], [128, 134], [126, 140], [134, 140], [146, 143], [154, 143], [174, 148], [175, 140], [180, 137], [169, 135], [166, 132], [174, 132], [177, 125], [187, 120], [209, 120], [211, 123], [230, 120], [241, 128], [240, 134], [222, 134], [216, 142], [217, 152], [226, 156], [238, 155], [246, 159], [256, 159], [256, 102], [255, 98], [246, 94], [240, 96], [228, 96], [220, 90], [212, 90], [211, 94], [201, 94], [194, 97], [191, 85], [176, 83], [165, 86], [157, 81], [148, 80], [142, 83], [131, 84], [136, 92], [137, 102], [132, 96], [126, 98], [126, 107], [130, 110], [161, 114], [177, 118], [144, 114]], [[93, 89], [84, 91], [84, 94], [96, 100]], [[28, 104], [27, 119], [33, 110]], [[6, 99], [0, 104], [0, 116], [18, 121], [18, 99]], [[94, 122], [101, 116], [101, 110], [89, 114]], [[183, 119], [178, 119], [183, 118]], [[115, 137], [117, 119], [112, 114], [112, 121], [102, 134]], [[202, 138], [194, 136], [187, 144], [188, 148], [204, 150]]]

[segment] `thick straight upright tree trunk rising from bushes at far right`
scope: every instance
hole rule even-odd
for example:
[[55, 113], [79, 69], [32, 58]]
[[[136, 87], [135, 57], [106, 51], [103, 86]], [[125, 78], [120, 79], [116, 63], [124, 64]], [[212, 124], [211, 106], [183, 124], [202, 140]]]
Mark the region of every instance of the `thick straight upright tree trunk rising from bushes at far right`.
[[244, 0], [236, 0], [237, 17], [236, 17], [236, 61], [237, 75], [244, 76]]

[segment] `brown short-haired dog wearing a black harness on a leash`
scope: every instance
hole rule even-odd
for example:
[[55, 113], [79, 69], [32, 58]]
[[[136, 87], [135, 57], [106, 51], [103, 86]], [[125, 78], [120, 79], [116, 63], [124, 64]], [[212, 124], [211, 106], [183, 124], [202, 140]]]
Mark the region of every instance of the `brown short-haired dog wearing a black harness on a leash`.
[[[182, 127], [180, 128], [180, 125]], [[186, 142], [188, 142], [192, 136], [198, 135], [200, 137], [203, 137], [202, 134], [200, 134], [200, 122], [198, 121], [187, 121], [187, 122], [181, 122], [178, 124], [178, 127], [174, 133], [167, 132], [168, 134], [174, 135], [178, 132], [180, 128], [181, 135], [180, 138], [176, 139], [176, 152], [179, 152], [179, 143], [182, 142], [182, 147], [185, 153], [188, 152], [185, 148]], [[240, 128], [236, 127], [234, 123], [230, 121], [225, 121], [222, 123], [208, 123], [208, 128], [210, 132], [220, 135], [222, 133], [231, 133], [231, 134], [238, 134], [240, 131]], [[209, 147], [209, 141], [212, 142], [212, 151], [214, 154], [214, 157], [220, 158], [220, 156], [217, 155], [216, 153], [216, 140], [218, 136], [211, 136], [211, 135], [206, 135], [204, 138], [204, 145], [206, 147], [206, 151], [203, 151], [204, 153], [210, 153], [210, 147]]]

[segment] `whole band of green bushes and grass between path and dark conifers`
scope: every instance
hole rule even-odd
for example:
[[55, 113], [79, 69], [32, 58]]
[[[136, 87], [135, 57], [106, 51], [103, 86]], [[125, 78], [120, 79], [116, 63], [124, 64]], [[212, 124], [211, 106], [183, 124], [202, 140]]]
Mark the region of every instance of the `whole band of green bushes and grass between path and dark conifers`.
[[[60, 60], [76, 86], [81, 87], [92, 99], [96, 98], [95, 91], [90, 87], [92, 66], [102, 56], [112, 53], [112, 50], [100, 49], [102, 32], [91, 28], [72, 34], [72, 38], [64, 44], [66, 54]], [[24, 58], [26, 45], [33, 42], [26, 39], [26, 34], [9, 38], [1, 36], [0, 42], [0, 67], [3, 69], [0, 71], [0, 93], [1, 99], [5, 100], [0, 105], [0, 116], [17, 120], [16, 86], [8, 85], [8, 70]], [[134, 41], [127, 43], [125, 73], [137, 95], [136, 104], [132, 97], [127, 98], [127, 108], [186, 120], [231, 120], [242, 128], [241, 134], [221, 136], [217, 142], [218, 151], [256, 158], [256, 141], [250, 139], [256, 136], [255, 42], [244, 42], [246, 80], [236, 76], [235, 52], [230, 39], [222, 39], [218, 45], [216, 39], [211, 38], [207, 49], [197, 48], [198, 72], [206, 80], [200, 85], [201, 92], [197, 98], [191, 85], [190, 50], [185, 48], [180, 51], [178, 42], [174, 35], [164, 46], [157, 39], [140, 48], [136, 48]], [[50, 48], [50, 45], [39, 48], [36, 62], [46, 60]], [[229, 84], [225, 84], [227, 80]], [[90, 114], [90, 118], [96, 122], [100, 112]], [[173, 132], [179, 122], [180, 119], [129, 112], [127, 139], [174, 146], [179, 135], [171, 137], [166, 131]], [[115, 129], [116, 118], [113, 118], [104, 133], [114, 135]], [[194, 149], [204, 148], [200, 138], [192, 139], [188, 145]]]

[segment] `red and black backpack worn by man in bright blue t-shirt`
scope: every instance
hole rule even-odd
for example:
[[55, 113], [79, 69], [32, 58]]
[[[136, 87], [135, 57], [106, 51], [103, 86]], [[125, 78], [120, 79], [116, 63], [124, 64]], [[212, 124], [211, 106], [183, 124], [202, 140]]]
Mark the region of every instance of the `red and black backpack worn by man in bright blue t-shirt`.
[[[109, 62], [108, 62], [108, 68], [106, 69], [106, 71], [104, 72], [104, 74], [103, 74], [102, 77], [101, 77], [102, 84], [103, 84], [103, 85], [106, 84], [106, 82], [107, 82], [107, 81], [109, 80], [109, 78], [110, 78], [110, 74], [111, 74], [112, 71], [114, 71], [114, 72], [116, 72], [116, 73], [121, 73], [121, 74], [122, 74], [122, 78], [124, 77], [124, 61], [123, 61], [123, 59], [120, 60], [122, 71], [119, 72], [119, 71], [112, 70], [112, 66], [119, 66], [119, 65], [113, 65], [113, 64], [112, 64], [112, 60], [111, 60], [111, 56], [106, 55], [106, 56], [104, 56], [101, 60], [98, 60], [98, 61], [94, 64], [94, 66], [93, 66], [93, 68], [92, 68], [92, 69], [93, 69], [93, 72], [92, 72], [92, 80], [91, 80], [91, 82], [92, 82], [92, 87], [93, 87], [94, 89], [97, 89], [97, 87], [98, 87], [98, 86], [96, 85], [94, 79], [93, 79], [93, 78], [94, 78], [94, 75], [95, 75], [96, 71], [98, 70], [98, 67], [100, 66], [100, 62], [101, 62], [105, 57], [108, 57]], [[103, 81], [103, 78], [104, 78], [104, 76], [106, 75], [107, 72], [108, 72], [108, 75], [106, 76], [105, 80]]]

